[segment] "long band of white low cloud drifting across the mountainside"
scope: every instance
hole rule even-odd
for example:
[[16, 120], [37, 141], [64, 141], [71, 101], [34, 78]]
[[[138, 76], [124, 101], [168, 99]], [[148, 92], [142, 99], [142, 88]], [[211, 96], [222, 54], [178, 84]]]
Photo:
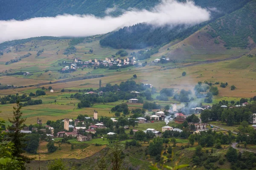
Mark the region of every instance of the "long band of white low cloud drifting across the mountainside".
[[[110, 12], [111, 9], [107, 9]], [[210, 11], [195, 6], [192, 1], [185, 3], [163, 0], [148, 10], [132, 8], [118, 17], [95, 17], [94, 15], [58, 15], [56, 17], [37, 17], [29, 20], [1, 20], [0, 42], [29, 37], [85, 37], [105, 34], [124, 26], [147, 22], [154, 26], [166, 24], [192, 26], [209, 20]]]

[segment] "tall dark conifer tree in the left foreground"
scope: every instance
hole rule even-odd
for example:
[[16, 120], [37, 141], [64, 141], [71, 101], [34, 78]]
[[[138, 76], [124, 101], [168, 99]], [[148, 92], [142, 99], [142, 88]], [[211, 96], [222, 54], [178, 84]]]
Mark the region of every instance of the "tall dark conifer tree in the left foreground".
[[25, 139], [23, 138], [25, 136], [25, 133], [20, 133], [20, 130], [24, 127], [24, 122], [26, 119], [21, 118], [22, 112], [20, 109], [22, 106], [20, 105], [20, 102], [17, 101], [16, 103], [17, 107], [13, 107], [13, 117], [12, 120], [9, 119], [9, 122], [12, 124], [12, 126], [8, 126], [8, 137], [9, 140], [14, 144], [15, 150], [13, 153], [13, 156], [16, 156], [17, 158], [20, 158], [21, 161], [24, 163], [22, 164], [22, 169], [25, 170], [25, 162], [29, 163], [33, 158], [29, 158], [27, 156], [22, 155], [22, 153], [25, 153], [26, 151], [22, 148], [26, 147], [26, 144], [24, 143]]

